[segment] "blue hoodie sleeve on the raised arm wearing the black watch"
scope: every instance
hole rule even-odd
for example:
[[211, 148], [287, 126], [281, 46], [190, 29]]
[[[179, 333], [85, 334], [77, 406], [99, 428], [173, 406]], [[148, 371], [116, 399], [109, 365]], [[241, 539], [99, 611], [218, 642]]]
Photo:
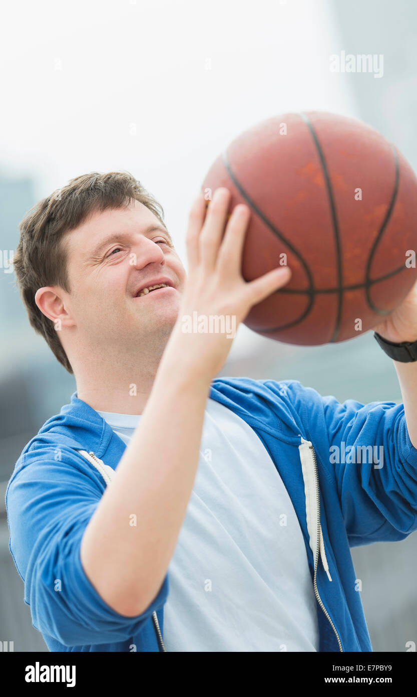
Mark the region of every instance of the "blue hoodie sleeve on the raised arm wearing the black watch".
[[337, 497], [350, 546], [394, 542], [417, 530], [417, 450], [403, 404], [341, 403], [295, 380], [265, 384], [296, 412], [300, 433], [313, 443], [324, 510], [335, 523]]

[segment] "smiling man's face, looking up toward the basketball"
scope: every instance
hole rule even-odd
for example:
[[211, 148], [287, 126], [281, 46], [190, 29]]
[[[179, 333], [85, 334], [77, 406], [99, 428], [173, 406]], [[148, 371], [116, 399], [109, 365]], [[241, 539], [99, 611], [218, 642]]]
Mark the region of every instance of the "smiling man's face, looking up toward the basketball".
[[[63, 244], [68, 309], [79, 338], [114, 354], [146, 352], [166, 341], [178, 317], [185, 270], [168, 232], [139, 201], [98, 211]], [[145, 286], [169, 287], [139, 296]]]

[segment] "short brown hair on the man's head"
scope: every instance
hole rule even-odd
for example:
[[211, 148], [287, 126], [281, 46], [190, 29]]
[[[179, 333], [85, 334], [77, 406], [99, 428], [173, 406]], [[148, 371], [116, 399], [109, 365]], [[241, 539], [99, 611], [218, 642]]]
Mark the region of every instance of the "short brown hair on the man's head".
[[60, 363], [73, 373], [51, 319], [40, 311], [35, 293], [43, 286], [60, 286], [70, 293], [65, 233], [75, 229], [96, 210], [123, 208], [140, 201], [164, 223], [164, 209], [139, 181], [125, 171], [90, 172], [71, 179], [62, 189], [39, 201], [19, 225], [19, 244], [13, 256], [17, 286], [29, 321]]

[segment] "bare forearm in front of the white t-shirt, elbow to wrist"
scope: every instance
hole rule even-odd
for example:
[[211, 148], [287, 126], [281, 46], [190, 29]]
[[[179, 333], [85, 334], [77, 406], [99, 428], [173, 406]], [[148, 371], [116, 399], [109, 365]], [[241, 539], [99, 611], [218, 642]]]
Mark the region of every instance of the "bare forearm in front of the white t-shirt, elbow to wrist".
[[171, 344], [116, 477], [81, 542], [86, 575], [122, 615], [139, 615], [157, 595], [198, 465], [210, 375], [187, 369], [184, 344], [177, 339]]

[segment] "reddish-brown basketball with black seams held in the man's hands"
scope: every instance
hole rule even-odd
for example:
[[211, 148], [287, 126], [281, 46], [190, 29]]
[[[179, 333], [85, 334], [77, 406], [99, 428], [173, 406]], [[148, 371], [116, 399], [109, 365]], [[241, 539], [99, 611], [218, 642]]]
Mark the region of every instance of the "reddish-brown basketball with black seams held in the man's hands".
[[245, 324], [289, 344], [343, 342], [372, 329], [417, 281], [417, 179], [397, 148], [361, 121], [283, 114], [239, 135], [203, 181], [251, 208], [242, 275], [292, 277]]

